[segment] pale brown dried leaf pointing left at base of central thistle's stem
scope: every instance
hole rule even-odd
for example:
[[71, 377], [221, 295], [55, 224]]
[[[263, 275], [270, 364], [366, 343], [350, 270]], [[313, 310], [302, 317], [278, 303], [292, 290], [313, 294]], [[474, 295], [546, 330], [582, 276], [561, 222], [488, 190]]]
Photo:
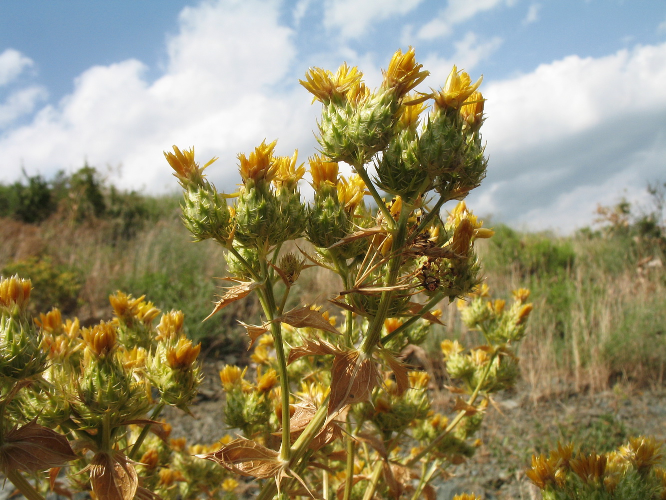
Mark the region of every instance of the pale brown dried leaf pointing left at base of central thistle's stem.
[[217, 462], [236, 474], [259, 479], [277, 477], [279, 480], [283, 471], [279, 455], [275, 450], [239, 437], [222, 446], [218, 451], [195, 456]]

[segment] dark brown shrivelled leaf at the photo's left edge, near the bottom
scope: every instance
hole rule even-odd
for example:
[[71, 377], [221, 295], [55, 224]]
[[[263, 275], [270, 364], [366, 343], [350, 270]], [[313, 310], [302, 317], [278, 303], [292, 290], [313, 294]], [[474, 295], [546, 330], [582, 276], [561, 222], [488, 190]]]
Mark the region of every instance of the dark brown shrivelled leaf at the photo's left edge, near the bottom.
[[0, 470], [37, 472], [65, 465], [79, 458], [72, 451], [67, 437], [38, 425], [35, 420], [14, 427], [0, 445]]

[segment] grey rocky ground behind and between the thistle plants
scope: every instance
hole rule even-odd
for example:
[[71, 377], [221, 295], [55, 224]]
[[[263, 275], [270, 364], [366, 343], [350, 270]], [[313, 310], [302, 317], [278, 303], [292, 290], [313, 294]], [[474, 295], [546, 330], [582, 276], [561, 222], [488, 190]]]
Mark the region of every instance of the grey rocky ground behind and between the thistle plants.
[[[206, 364], [206, 377], [196, 419], [182, 412], [165, 415], [174, 423], [174, 435], [190, 443], [208, 443], [224, 433], [222, 391], [218, 369], [222, 361]], [[476, 493], [484, 499], [540, 499], [539, 491], [525, 477], [532, 453], [545, 452], [557, 441], [574, 441], [583, 448], [608, 451], [628, 437], [651, 434], [666, 438], [666, 391], [659, 387], [614, 390], [587, 395], [563, 391], [549, 398], [533, 399], [520, 387], [500, 394], [490, 405], [480, 431], [482, 445], [468, 463], [452, 469], [454, 477], [438, 487], [438, 499], [456, 493]]]

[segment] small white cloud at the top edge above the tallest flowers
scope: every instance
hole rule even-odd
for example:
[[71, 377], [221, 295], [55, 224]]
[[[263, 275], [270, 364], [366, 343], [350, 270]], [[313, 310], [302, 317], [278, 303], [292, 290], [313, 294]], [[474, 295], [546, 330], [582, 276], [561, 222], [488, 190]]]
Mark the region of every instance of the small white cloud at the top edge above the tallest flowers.
[[339, 29], [345, 38], [367, 35], [368, 26], [396, 14], [406, 14], [422, 0], [326, 0], [324, 27]]

